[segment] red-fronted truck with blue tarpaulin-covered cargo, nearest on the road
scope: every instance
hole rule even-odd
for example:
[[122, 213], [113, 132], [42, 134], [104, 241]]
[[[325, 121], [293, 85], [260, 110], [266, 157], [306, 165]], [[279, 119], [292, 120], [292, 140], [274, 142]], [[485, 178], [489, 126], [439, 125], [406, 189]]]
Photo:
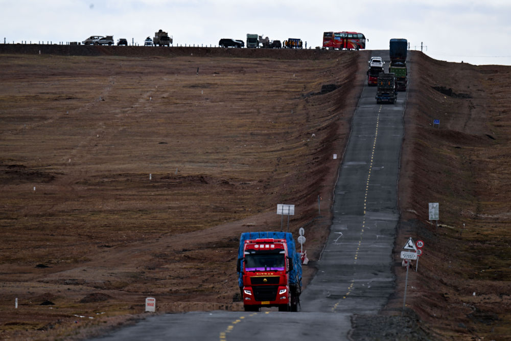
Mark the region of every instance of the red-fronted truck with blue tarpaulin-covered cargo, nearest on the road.
[[242, 233], [237, 271], [245, 311], [298, 311], [301, 258], [291, 233]]

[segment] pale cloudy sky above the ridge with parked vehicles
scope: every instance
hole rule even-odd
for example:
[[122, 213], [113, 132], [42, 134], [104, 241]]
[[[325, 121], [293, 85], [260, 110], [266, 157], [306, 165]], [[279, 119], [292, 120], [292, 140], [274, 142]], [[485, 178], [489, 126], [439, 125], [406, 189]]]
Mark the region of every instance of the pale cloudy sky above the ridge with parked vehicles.
[[[0, 39], [82, 41], [113, 35], [143, 43], [158, 29], [176, 44], [220, 38], [301, 38], [321, 46], [324, 31], [363, 33], [369, 50], [406, 38], [440, 60], [511, 65], [511, 0], [0, 0]], [[3, 41], [2, 41], [3, 42]]]

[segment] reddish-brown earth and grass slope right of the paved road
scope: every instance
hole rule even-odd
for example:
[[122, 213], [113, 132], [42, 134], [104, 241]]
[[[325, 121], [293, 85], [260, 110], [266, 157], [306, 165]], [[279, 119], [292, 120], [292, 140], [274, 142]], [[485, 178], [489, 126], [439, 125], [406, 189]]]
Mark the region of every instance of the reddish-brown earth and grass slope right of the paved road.
[[[425, 242], [407, 305], [437, 337], [508, 339], [511, 334], [511, 67], [412, 54], [394, 257], [408, 237]], [[439, 120], [439, 126], [433, 125]], [[428, 203], [438, 202], [438, 229]], [[404, 268], [396, 268], [402, 307]]]

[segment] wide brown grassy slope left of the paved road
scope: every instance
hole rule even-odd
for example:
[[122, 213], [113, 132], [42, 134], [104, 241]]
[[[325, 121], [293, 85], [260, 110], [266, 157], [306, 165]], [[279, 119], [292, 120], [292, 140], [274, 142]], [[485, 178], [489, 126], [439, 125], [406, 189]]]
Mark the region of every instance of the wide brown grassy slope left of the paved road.
[[240, 309], [239, 235], [280, 230], [277, 203], [317, 259], [366, 52], [32, 52], [0, 55], [0, 337], [74, 337], [148, 296]]

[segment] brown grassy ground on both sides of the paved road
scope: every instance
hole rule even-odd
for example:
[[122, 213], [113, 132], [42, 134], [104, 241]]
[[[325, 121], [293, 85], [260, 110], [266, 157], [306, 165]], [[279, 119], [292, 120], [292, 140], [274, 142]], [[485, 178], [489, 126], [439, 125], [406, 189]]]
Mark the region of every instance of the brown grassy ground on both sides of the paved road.
[[[86, 337], [148, 296], [240, 310], [239, 234], [280, 229], [277, 203], [318, 259], [368, 51], [48, 49], [0, 49], [0, 338]], [[408, 308], [432, 338], [506, 339], [511, 67], [414, 52], [410, 68], [383, 314], [401, 313], [411, 236], [426, 246]]]

